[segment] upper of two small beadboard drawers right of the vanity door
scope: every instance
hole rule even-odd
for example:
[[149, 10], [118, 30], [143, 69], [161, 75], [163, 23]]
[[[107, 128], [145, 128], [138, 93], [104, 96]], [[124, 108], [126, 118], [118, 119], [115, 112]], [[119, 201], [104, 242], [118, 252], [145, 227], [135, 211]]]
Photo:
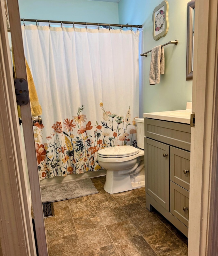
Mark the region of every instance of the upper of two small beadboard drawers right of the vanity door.
[[190, 152], [170, 147], [170, 180], [189, 191]]

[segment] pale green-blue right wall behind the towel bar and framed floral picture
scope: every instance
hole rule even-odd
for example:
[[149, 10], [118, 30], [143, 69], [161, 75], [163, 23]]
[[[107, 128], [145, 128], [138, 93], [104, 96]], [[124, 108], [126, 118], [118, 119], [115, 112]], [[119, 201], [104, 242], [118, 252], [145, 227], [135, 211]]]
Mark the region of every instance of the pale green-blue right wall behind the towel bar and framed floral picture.
[[152, 13], [160, 0], [121, 0], [119, 23], [143, 24], [144, 52], [154, 46], [177, 39], [178, 45], [165, 46], [165, 74], [160, 83], [149, 85], [151, 53], [144, 59], [144, 112], [179, 110], [192, 101], [192, 81], [186, 81], [186, 30], [188, 0], [168, 0], [169, 30], [155, 41], [152, 36]]

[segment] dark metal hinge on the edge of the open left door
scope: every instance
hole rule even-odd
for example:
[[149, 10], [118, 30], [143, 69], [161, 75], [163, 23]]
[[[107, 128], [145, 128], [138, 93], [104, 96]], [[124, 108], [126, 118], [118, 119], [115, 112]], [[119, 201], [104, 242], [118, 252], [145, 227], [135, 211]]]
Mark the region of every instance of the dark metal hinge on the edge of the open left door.
[[17, 105], [26, 105], [29, 102], [29, 90], [27, 81], [23, 78], [15, 78], [14, 87]]

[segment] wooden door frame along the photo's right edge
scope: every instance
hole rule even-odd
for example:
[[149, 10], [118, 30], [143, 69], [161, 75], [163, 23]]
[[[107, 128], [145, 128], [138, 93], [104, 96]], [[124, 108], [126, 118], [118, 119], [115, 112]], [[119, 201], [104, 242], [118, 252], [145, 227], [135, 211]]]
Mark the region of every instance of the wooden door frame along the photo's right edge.
[[216, 255], [218, 244], [217, 0], [196, 0], [191, 130], [189, 256]]

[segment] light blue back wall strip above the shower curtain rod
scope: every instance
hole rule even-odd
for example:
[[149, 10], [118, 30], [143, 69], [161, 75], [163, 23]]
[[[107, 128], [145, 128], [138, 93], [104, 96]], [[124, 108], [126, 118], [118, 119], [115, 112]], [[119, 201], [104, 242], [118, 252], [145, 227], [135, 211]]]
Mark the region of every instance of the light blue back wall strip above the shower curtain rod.
[[21, 18], [118, 23], [118, 4], [90, 0], [19, 0]]

